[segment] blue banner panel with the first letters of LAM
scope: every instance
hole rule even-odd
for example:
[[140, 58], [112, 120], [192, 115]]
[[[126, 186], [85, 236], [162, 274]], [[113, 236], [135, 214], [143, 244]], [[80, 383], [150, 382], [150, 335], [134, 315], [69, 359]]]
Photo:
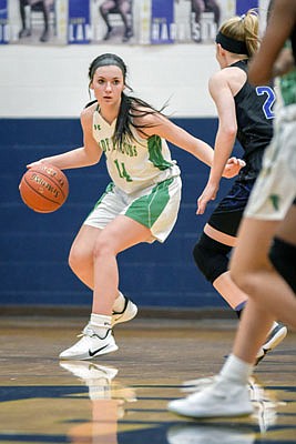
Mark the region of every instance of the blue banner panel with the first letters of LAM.
[[69, 0], [68, 42], [84, 44], [91, 41], [89, 0]]

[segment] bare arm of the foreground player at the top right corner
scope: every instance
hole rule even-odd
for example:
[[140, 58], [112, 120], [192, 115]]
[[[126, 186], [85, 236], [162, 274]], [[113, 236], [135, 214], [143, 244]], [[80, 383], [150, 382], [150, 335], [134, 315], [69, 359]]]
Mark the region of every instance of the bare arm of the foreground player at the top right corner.
[[266, 84], [275, 75], [284, 73], [282, 67], [277, 65], [278, 56], [292, 33], [295, 20], [296, 1], [275, 0], [261, 48], [249, 63], [251, 83]]

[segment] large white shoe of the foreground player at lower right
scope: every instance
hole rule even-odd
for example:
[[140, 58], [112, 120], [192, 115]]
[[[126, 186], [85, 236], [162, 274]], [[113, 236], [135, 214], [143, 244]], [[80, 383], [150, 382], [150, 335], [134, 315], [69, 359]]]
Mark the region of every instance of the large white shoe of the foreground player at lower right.
[[182, 400], [171, 401], [167, 408], [188, 417], [228, 417], [254, 412], [247, 385], [214, 382]]

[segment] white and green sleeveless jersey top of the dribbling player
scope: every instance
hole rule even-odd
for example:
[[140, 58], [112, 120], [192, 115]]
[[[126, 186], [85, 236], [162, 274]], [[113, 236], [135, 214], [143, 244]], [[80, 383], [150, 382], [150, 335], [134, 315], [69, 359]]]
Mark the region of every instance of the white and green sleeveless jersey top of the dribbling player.
[[164, 139], [156, 134], [143, 139], [132, 128], [134, 139], [118, 148], [112, 142], [115, 124], [116, 120], [109, 124], [98, 110], [94, 111], [93, 137], [105, 154], [108, 172], [119, 189], [131, 194], [180, 175]]

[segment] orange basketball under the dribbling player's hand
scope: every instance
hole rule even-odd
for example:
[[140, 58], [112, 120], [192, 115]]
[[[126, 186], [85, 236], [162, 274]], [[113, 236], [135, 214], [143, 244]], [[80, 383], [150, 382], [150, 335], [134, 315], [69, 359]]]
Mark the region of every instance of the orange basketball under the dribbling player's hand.
[[69, 183], [65, 174], [57, 167], [40, 163], [30, 168], [20, 182], [20, 194], [31, 210], [52, 213], [65, 202]]

